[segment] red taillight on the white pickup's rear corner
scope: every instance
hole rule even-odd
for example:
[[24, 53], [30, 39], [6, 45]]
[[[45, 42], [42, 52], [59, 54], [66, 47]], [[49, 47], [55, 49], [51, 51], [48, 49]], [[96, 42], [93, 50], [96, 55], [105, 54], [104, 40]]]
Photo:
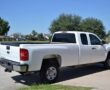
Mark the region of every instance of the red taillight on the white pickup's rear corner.
[[20, 49], [20, 60], [21, 61], [29, 60], [29, 52], [27, 49]]

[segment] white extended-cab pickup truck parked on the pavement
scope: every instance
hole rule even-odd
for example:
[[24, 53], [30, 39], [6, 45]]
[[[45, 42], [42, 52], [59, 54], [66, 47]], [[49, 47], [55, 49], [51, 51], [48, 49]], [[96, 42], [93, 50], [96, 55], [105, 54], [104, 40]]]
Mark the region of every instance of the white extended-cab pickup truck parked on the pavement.
[[54, 82], [59, 69], [66, 66], [102, 62], [110, 68], [110, 46], [89, 32], [59, 31], [50, 44], [1, 43], [0, 64], [5, 71], [39, 71], [41, 78]]

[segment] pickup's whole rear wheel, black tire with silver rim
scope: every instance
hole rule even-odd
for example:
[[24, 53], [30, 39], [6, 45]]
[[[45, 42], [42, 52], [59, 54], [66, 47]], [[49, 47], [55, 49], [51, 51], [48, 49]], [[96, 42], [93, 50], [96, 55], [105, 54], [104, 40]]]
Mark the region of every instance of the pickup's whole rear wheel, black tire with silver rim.
[[47, 61], [40, 71], [40, 78], [43, 83], [54, 83], [59, 74], [59, 66], [55, 61]]

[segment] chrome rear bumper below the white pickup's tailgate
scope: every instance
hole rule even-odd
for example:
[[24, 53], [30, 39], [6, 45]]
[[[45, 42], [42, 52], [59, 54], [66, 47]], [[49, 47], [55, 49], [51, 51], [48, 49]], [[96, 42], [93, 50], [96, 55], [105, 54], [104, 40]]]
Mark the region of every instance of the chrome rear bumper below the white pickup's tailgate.
[[19, 62], [14, 62], [14, 61], [7, 60], [4, 58], [0, 58], [0, 65], [10, 71], [17, 71], [17, 72], [27, 72], [28, 71], [27, 64], [21, 65]]

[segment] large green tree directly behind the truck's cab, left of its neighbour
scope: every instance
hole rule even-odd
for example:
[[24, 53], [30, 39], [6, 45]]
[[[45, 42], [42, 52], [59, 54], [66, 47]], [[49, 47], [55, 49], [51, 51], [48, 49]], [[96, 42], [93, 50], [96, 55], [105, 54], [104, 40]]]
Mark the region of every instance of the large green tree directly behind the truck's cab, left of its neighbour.
[[50, 32], [54, 33], [56, 31], [76, 31], [80, 30], [80, 16], [72, 16], [61, 14], [58, 19], [54, 20], [50, 26]]

